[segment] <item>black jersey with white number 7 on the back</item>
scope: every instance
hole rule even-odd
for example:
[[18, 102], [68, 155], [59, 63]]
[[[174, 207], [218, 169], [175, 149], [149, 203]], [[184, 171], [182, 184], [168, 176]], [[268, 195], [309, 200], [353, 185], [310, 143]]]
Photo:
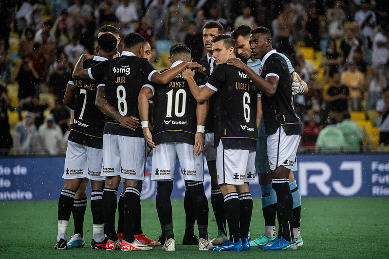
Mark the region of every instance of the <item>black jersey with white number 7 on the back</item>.
[[[84, 68], [107, 60], [104, 57], [94, 56], [84, 61]], [[69, 140], [93, 148], [103, 148], [103, 129], [105, 116], [94, 105], [98, 81], [69, 79], [74, 85], [74, 120], [69, 132]]]

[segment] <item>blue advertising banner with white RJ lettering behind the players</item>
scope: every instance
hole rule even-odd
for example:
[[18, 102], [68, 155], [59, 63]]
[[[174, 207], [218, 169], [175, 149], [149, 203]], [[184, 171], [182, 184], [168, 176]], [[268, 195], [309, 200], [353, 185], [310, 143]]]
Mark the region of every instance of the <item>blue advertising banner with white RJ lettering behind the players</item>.
[[[57, 200], [62, 190], [63, 156], [0, 157], [0, 201]], [[304, 197], [389, 196], [389, 155], [297, 155], [297, 186]], [[211, 179], [204, 161], [204, 189], [211, 194]], [[147, 159], [141, 199], [155, 199], [151, 181], [151, 157]], [[122, 187], [119, 187], [121, 191]], [[250, 185], [253, 197], [261, 197], [258, 182]], [[87, 189], [90, 197], [91, 188]], [[171, 197], [184, 198], [185, 183], [179, 164]]]

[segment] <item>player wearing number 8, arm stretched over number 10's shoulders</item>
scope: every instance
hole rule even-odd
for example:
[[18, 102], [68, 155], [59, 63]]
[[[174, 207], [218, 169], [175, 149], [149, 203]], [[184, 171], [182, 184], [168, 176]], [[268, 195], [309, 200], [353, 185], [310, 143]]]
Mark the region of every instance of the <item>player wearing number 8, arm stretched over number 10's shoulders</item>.
[[[166, 84], [186, 68], [198, 68], [196, 62], [183, 62], [173, 69], [159, 73], [143, 56], [145, 39], [136, 33], [126, 35], [122, 55], [102, 62], [91, 69], [83, 68], [83, 61], [91, 58], [83, 54], [75, 65], [73, 76], [78, 79], [102, 80], [97, 89], [96, 106], [107, 116], [103, 135], [103, 192], [107, 250], [150, 250], [134, 237], [134, 223], [139, 215], [140, 192], [145, 175], [146, 141], [139, 124], [138, 95], [141, 87], [151, 81]], [[120, 178], [125, 178], [124, 235], [118, 240], [114, 228], [116, 193]]]

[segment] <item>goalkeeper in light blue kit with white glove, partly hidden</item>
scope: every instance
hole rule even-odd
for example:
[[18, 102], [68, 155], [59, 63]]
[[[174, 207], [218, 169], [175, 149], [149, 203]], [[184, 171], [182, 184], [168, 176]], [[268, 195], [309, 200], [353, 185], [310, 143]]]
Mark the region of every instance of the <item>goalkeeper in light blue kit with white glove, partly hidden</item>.
[[[241, 25], [231, 33], [231, 36], [237, 42], [237, 51], [238, 54], [245, 58], [249, 58], [247, 65], [249, 68], [253, 69], [258, 75], [261, 71], [261, 61], [256, 59], [251, 55], [250, 48], [250, 35], [251, 27], [247, 25]], [[293, 68], [290, 60], [283, 54], [281, 55], [286, 63], [288, 64], [289, 72], [293, 74], [295, 69]], [[237, 59], [230, 59], [228, 62], [229, 65], [235, 65], [238, 68], [243, 68], [245, 65]], [[248, 69], [248, 68], [247, 68]], [[296, 73], [296, 72], [295, 72]], [[296, 73], [296, 78], [293, 78], [292, 83], [292, 95], [304, 95], [308, 92], [307, 84], [300, 78]], [[262, 110], [262, 109], [261, 109]], [[258, 246], [273, 240], [276, 237], [276, 209], [277, 209], [277, 196], [276, 192], [273, 190], [271, 182], [272, 177], [270, 172], [269, 161], [267, 157], [267, 136], [265, 134], [265, 127], [263, 125], [262, 115], [261, 122], [258, 129], [258, 142], [257, 142], [257, 154], [255, 158], [255, 167], [258, 173], [258, 180], [260, 189], [262, 191], [262, 213], [265, 219], [265, 232], [259, 238], [250, 242], [251, 246]], [[293, 171], [297, 170], [297, 162], [294, 164]], [[297, 246], [303, 244], [302, 238], [300, 236], [300, 220], [301, 220], [301, 195], [300, 191], [297, 188], [296, 180], [293, 172], [289, 174], [289, 187], [292, 191], [293, 196], [293, 232], [294, 236], [297, 239]]]

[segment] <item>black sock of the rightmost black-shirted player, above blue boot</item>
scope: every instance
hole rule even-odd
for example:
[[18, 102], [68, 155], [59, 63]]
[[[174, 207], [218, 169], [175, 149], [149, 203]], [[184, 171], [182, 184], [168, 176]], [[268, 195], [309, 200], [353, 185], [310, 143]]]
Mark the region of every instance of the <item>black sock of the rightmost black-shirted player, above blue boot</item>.
[[277, 193], [277, 217], [282, 237], [292, 241], [293, 235], [293, 198], [289, 188], [289, 179], [277, 178], [272, 180], [272, 187]]

